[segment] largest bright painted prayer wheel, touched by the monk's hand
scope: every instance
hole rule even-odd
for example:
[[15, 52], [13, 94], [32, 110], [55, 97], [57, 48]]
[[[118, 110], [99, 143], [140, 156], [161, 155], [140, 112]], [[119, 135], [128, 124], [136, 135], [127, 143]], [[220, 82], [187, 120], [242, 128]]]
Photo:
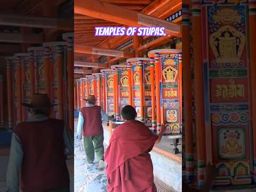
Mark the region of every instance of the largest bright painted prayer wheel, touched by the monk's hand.
[[157, 134], [161, 125], [165, 126], [165, 135], [180, 134], [182, 95], [181, 95], [181, 50], [159, 49], [148, 52], [155, 61], [156, 119]]

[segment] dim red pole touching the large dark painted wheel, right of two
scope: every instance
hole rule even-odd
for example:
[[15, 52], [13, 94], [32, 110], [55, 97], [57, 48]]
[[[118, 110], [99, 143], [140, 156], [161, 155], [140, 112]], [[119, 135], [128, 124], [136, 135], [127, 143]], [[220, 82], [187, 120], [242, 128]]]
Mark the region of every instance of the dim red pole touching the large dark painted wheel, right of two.
[[197, 180], [198, 186], [204, 185], [205, 172], [205, 125], [204, 125], [204, 79], [202, 59], [202, 23], [201, 1], [192, 1], [193, 53], [195, 66], [195, 103], [196, 103], [196, 147], [197, 147]]

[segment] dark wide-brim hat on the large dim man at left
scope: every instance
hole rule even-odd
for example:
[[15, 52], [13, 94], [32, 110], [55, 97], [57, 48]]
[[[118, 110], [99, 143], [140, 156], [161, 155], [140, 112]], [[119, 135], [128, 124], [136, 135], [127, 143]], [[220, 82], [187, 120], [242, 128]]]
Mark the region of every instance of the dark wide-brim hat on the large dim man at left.
[[51, 108], [58, 104], [52, 104], [47, 94], [35, 93], [30, 103], [22, 103], [22, 106], [33, 109]]

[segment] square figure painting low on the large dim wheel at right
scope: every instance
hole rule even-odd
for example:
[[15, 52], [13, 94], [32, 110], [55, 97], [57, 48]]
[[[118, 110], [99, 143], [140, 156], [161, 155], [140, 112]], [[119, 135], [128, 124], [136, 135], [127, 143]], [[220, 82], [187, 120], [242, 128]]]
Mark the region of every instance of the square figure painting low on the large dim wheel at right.
[[242, 158], [245, 155], [243, 129], [219, 130], [219, 155], [221, 158]]

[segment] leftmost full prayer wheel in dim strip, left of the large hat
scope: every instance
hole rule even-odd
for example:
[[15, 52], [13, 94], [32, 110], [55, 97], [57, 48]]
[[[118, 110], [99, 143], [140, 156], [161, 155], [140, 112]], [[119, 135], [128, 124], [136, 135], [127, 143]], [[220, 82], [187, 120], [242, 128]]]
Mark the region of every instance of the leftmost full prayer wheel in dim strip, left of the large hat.
[[6, 83], [8, 105], [8, 130], [11, 131], [17, 121], [17, 57], [6, 57]]

